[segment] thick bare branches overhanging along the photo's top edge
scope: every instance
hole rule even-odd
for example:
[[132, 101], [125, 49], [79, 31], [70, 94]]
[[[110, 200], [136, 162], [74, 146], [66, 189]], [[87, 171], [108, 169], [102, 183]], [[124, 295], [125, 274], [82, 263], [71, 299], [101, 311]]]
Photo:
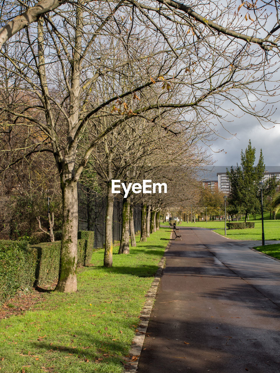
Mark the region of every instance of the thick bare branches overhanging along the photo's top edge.
[[[117, 8], [126, 8], [134, 6], [139, 10], [139, 13], [149, 21], [153, 27], [161, 32], [162, 35], [168, 40], [168, 36], [155, 19], [165, 19], [169, 23], [174, 23], [177, 29], [181, 26], [189, 26], [193, 29], [193, 34], [197, 37], [204, 38], [205, 34], [210, 30], [212, 34], [223, 34], [228, 39], [243, 40], [246, 43], [258, 44], [263, 50], [270, 51], [276, 50], [278, 52], [277, 42], [279, 40], [280, 23], [278, 18], [278, 3], [264, 0], [257, 0], [255, 3], [245, 1], [241, 3], [238, 8], [234, 1], [227, 1], [226, 3], [217, 3], [214, 1], [200, 1], [199, 3], [185, 5], [174, 0], [158, 0], [159, 7], [156, 7], [150, 2], [143, 1], [142, 3], [134, 0], [118, 1], [115, 3]], [[99, 1], [100, 8], [107, 3]], [[4, 3], [3, 3], [4, 4]], [[32, 22], [38, 21], [40, 16], [57, 9], [65, 4], [61, 0], [42, 0], [32, 6], [28, 1], [10, 1], [2, 6], [2, 17], [8, 22], [0, 29], [1, 44], [7, 41], [16, 32], [29, 26]], [[83, 5], [84, 11], [91, 12], [92, 2], [89, 3], [71, 3], [73, 6], [79, 4]], [[63, 5], [65, 7], [65, 5]], [[244, 25], [240, 22], [240, 11], [244, 10], [245, 19], [249, 25]], [[23, 11], [24, 10], [24, 11]], [[153, 13], [152, 15], [150, 14]], [[268, 17], [267, 13], [273, 13], [272, 17]], [[13, 17], [7, 17], [8, 13], [12, 13]], [[232, 18], [230, 17], [232, 15]], [[226, 19], [226, 24], [224, 24]], [[220, 24], [219, 24], [220, 23]], [[222, 25], [223, 24], [223, 25]], [[274, 25], [271, 28], [271, 25]], [[253, 32], [252, 32], [253, 31]], [[261, 31], [261, 32], [260, 32]], [[253, 33], [253, 35], [252, 35]], [[262, 37], [258, 37], [259, 33]]]

